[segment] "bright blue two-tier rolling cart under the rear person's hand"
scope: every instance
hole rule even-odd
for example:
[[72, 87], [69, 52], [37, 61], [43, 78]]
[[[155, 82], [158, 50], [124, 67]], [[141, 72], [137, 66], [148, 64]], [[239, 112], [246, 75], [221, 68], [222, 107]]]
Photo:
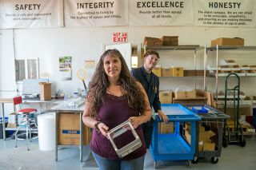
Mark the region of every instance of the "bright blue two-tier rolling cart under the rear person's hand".
[[[161, 107], [169, 122], [174, 122], [174, 133], [158, 134], [158, 123], [162, 120], [158, 116], [155, 118], [150, 145], [154, 168], [158, 168], [158, 160], [188, 160], [190, 167], [191, 160], [194, 160], [196, 121], [200, 121], [201, 117], [180, 104], [162, 104]], [[180, 125], [184, 122], [191, 124], [190, 144], [185, 140], [184, 133], [180, 132]]]

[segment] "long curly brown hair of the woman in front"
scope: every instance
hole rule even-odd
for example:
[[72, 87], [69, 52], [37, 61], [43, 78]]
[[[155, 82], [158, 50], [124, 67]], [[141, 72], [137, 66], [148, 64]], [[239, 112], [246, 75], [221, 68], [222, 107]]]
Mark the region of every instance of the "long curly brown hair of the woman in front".
[[124, 97], [127, 104], [130, 108], [136, 109], [139, 113], [143, 114], [146, 110], [144, 93], [142, 93], [134, 77], [130, 75], [126, 61], [118, 49], [108, 49], [102, 54], [98, 61], [94, 76], [89, 84], [87, 100], [90, 102], [90, 117], [98, 117], [98, 111], [104, 102], [106, 89], [110, 85], [108, 76], [104, 70], [104, 58], [109, 55], [112, 57], [118, 57], [121, 60], [121, 73], [118, 85], [121, 85], [122, 89], [126, 92]]

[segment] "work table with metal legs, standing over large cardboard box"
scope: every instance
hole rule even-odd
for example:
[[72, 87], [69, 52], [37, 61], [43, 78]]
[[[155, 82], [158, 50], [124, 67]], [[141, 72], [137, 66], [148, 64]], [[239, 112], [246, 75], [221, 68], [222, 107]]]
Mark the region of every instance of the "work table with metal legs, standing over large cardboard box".
[[50, 110], [55, 112], [55, 160], [58, 161], [58, 147], [61, 148], [70, 148], [76, 147], [74, 145], [58, 145], [58, 113], [79, 113], [80, 114], [80, 161], [82, 162], [82, 148], [83, 148], [83, 129], [82, 129], [82, 113], [83, 113], [84, 105], [79, 108], [67, 108], [63, 104], [55, 105]]

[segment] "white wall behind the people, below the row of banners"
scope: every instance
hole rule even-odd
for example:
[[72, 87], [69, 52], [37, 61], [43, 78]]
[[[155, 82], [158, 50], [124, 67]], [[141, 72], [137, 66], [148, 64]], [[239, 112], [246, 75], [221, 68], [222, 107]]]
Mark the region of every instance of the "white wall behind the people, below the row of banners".
[[[144, 37], [161, 38], [163, 35], [178, 35], [179, 45], [208, 45], [210, 40], [220, 37], [244, 38], [245, 45], [256, 45], [255, 28], [218, 28], [201, 26], [145, 26], [145, 27], [92, 27], [92, 28], [42, 28], [42, 29], [17, 29], [14, 30], [16, 57], [39, 57], [41, 77], [49, 77], [54, 82], [55, 89], [62, 89], [66, 93], [73, 93], [78, 87], [82, 88], [82, 82], [76, 77], [78, 69], [84, 67], [85, 60], [95, 60], [102, 54], [102, 46], [112, 43], [113, 32], [128, 32], [128, 41], [132, 44], [143, 42]], [[15, 90], [14, 82], [14, 53], [12, 43], [12, 30], [0, 30], [0, 90]], [[183, 57], [164, 59], [167, 52], [160, 53], [161, 62], [164, 64], [193, 65], [194, 53], [183, 53]], [[251, 53], [250, 55], [255, 55]], [[58, 57], [70, 55], [72, 57], [72, 81], [58, 80]], [[176, 55], [171, 54], [170, 55]], [[177, 54], [181, 55], [181, 54]], [[199, 67], [202, 68], [203, 53], [198, 53]], [[223, 53], [224, 57], [230, 54]], [[241, 55], [244, 55], [243, 53]], [[239, 57], [238, 57], [239, 58]], [[250, 60], [249, 57], [248, 60]], [[256, 65], [256, 57], [250, 63]], [[193, 66], [192, 66], [193, 68]], [[8, 73], [8, 74], [6, 74]], [[8, 76], [6, 76], [8, 75]], [[10, 75], [10, 76], [9, 76]], [[255, 93], [255, 78], [243, 80], [242, 89], [248, 93]], [[184, 84], [194, 87], [193, 78], [162, 78], [161, 89], [175, 89]], [[202, 78], [197, 80], [198, 86], [202, 87]], [[251, 85], [254, 83], [254, 85]], [[208, 89], [214, 89], [214, 80], [208, 83]]]

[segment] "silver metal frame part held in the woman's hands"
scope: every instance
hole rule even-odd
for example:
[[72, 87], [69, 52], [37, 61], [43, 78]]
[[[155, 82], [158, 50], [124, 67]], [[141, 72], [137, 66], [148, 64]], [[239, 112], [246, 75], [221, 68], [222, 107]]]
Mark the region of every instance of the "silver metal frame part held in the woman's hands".
[[[135, 140], [130, 142], [130, 144], [126, 144], [122, 148], [118, 149], [117, 146], [114, 144], [114, 138], [122, 135], [122, 133], [124, 133], [128, 130], [131, 130], [131, 132], [134, 135]], [[136, 150], [137, 148], [142, 146], [142, 141], [140, 140], [137, 132], [134, 130], [133, 125], [130, 124], [130, 121], [123, 122], [122, 124], [112, 128], [106, 134], [109, 137], [109, 140], [110, 140], [111, 144], [113, 145], [115, 152], [117, 152], [118, 156], [121, 158], [130, 154], [130, 152], [134, 152], [134, 150]]]

